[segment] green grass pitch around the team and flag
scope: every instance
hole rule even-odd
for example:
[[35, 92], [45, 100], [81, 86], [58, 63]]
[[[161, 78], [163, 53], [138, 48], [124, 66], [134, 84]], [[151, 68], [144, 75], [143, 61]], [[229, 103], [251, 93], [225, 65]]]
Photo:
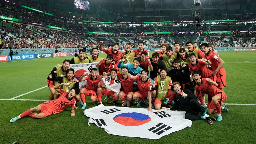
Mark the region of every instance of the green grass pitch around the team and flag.
[[[152, 52], [151, 52], [152, 53]], [[256, 104], [256, 52], [255, 51], [219, 51], [225, 61], [227, 72], [227, 94], [225, 103]], [[105, 54], [100, 54], [106, 57]], [[0, 99], [10, 99], [15, 96], [46, 86], [46, 77], [57, 64], [72, 56], [0, 62]], [[26, 94], [16, 99], [49, 98], [48, 87]], [[104, 97], [103, 97], [104, 99]], [[206, 98], [207, 99], [207, 98]], [[93, 107], [93, 102], [86, 97], [87, 109]], [[227, 105], [229, 113], [222, 113], [223, 120], [207, 124], [205, 120], [193, 121], [189, 128], [164, 136], [159, 140], [133, 137], [123, 137], [107, 134], [104, 129], [91, 124], [83, 115], [81, 105], [76, 109], [76, 115], [70, 116], [70, 107], [63, 112], [44, 119], [24, 117], [14, 123], [10, 119], [18, 116], [29, 108], [43, 101], [10, 101], [0, 100], [0, 143], [10, 144], [18, 141], [21, 144], [54, 144], [54, 143], [255, 143], [256, 106]], [[113, 105], [106, 104], [105, 105]], [[121, 106], [121, 103], [118, 103]], [[132, 105], [132, 107], [136, 107]], [[146, 106], [142, 106], [147, 108]], [[217, 116], [214, 114], [212, 116]], [[136, 133], [136, 131], [134, 131]]]

